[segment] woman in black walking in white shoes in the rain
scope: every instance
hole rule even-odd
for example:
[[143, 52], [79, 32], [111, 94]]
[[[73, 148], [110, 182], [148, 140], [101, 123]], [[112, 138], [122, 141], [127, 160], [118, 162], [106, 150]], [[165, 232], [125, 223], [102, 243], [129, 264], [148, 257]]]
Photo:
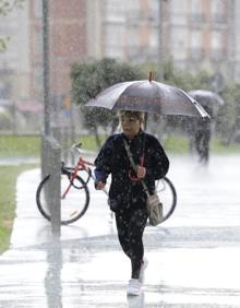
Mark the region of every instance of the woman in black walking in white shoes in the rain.
[[[109, 137], [95, 159], [95, 188], [103, 189], [111, 175], [110, 209], [115, 212], [119, 242], [131, 261], [128, 295], [140, 295], [144, 269], [143, 232], [147, 221], [146, 193], [155, 191], [155, 180], [163, 178], [169, 168], [168, 157], [159, 141], [143, 131], [144, 114], [121, 111], [122, 133]], [[130, 146], [136, 164], [134, 173], [124, 142]]]

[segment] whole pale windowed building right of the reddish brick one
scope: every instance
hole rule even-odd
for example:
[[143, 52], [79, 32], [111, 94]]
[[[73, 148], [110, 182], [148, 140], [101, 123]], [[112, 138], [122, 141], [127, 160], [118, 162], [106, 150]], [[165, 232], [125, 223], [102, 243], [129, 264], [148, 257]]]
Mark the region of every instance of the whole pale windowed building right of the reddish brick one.
[[159, 66], [172, 61], [240, 80], [239, 1], [108, 0], [105, 5], [104, 55]]

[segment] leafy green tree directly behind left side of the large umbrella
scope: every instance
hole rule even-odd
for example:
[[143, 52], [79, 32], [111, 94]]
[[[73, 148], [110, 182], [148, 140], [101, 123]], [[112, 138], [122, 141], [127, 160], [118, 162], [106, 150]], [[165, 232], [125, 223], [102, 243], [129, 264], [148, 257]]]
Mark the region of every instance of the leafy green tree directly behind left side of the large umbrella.
[[[106, 87], [118, 82], [140, 79], [143, 79], [140, 68], [109, 58], [74, 63], [71, 68], [72, 100], [84, 107]], [[93, 130], [100, 146], [99, 127], [111, 127], [113, 131], [117, 126], [116, 115], [104, 108], [81, 108], [81, 111], [85, 127]]]

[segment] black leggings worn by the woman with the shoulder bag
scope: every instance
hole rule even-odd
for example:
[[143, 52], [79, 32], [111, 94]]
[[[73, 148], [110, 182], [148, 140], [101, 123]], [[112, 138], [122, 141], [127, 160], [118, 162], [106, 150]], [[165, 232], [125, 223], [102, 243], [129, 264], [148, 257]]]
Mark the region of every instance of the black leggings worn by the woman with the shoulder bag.
[[116, 213], [118, 238], [122, 250], [130, 258], [132, 279], [139, 279], [144, 256], [143, 232], [146, 226], [146, 209], [129, 209]]

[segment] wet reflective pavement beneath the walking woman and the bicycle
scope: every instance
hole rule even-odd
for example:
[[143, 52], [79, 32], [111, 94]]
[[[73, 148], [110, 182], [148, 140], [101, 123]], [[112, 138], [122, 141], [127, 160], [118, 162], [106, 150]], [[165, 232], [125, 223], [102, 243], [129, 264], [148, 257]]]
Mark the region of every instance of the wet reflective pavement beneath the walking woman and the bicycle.
[[240, 307], [239, 156], [171, 157], [178, 192], [173, 215], [146, 227], [143, 294], [127, 297], [130, 262], [119, 247], [106, 196], [61, 238], [37, 211], [39, 169], [17, 180], [11, 249], [0, 256], [0, 307]]

